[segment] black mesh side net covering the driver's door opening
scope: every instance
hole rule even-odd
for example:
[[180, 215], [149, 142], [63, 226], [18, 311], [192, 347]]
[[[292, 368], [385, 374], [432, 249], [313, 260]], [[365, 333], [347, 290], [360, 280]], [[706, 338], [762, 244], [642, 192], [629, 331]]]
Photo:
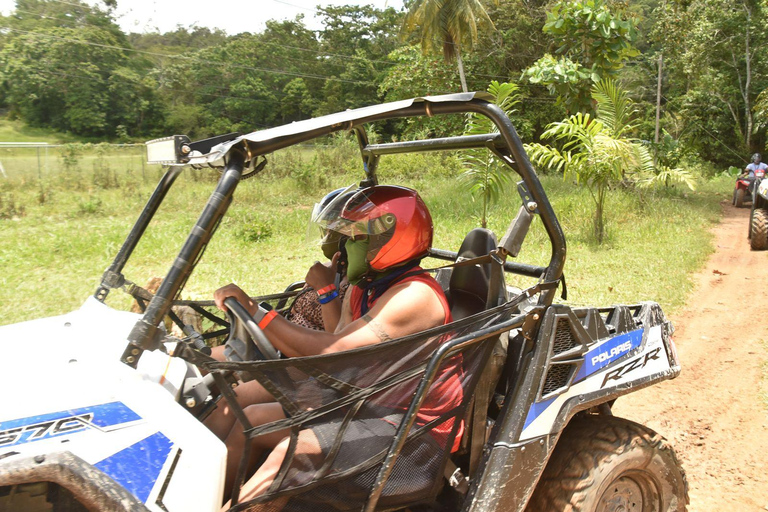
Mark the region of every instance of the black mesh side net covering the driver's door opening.
[[[294, 427], [295, 453], [283, 461], [269, 491], [234, 510], [360, 510], [435, 350], [510, 316], [509, 308], [496, 308], [422, 335], [341, 353], [203, 365], [209, 371], [251, 372], [289, 413], [287, 420], [255, 427], [249, 437]], [[498, 333], [489, 334], [443, 360], [379, 508], [434, 499], [442, 467], [464, 429], [476, 376], [496, 339]]]

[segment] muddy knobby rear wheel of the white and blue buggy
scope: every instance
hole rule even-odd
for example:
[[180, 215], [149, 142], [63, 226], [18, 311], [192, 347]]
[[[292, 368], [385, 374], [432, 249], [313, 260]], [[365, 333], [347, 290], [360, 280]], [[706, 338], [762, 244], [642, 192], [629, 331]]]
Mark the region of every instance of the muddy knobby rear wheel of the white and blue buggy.
[[685, 471], [653, 430], [613, 416], [574, 418], [528, 512], [684, 512]]

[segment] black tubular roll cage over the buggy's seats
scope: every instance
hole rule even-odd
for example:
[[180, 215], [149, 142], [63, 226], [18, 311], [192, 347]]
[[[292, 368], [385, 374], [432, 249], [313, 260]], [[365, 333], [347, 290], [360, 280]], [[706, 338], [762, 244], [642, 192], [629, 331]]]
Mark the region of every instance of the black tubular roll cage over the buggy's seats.
[[[543, 282], [559, 280], [563, 275], [566, 255], [563, 231], [512, 122], [498, 106], [487, 101], [487, 98], [488, 96], [484, 93], [414, 98], [374, 107], [348, 110], [339, 114], [253, 132], [244, 136], [237, 134], [221, 136], [213, 139], [218, 143], [213, 147], [211, 147], [211, 139], [189, 143], [187, 151], [190, 158], [168, 168], [117, 256], [104, 272], [101, 284], [94, 294], [98, 300], [103, 302], [110, 289], [121, 287], [126, 283], [122, 270], [183, 166], [220, 167], [223, 165], [221, 178], [200, 217], [168, 274], [163, 279], [160, 288], [147, 305], [143, 317], [129, 334], [128, 345], [123, 353], [122, 361], [135, 368], [142, 352], [154, 348], [157, 331], [163, 317], [169, 313], [174, 299], [183, 288], [215, 233], [232, 202], [234, 191], [243, 176], [243, 172], [253, 166], [256, 160], [263, 155], [338, 131], [352, 131], [357, 137], [366, 173], [362, 185], [377, 183], [376, 169], [382, 155], [473, 148], [487, 148], [493, 152], [523, 179], [530, 200], [536, 204], [535, 211], [541, 217], [552, 245], [550, 261], [546, 267], [506, 262], [505, 270], [536, 277]], [[462, 113], [476, 113], [488, 117], [499, 132], [486, 135], [370, 144], [364, 128], [368, 123], [387, 119]], [[228, 141], [219, 142], [228, 137], [232, 138]], [[202, 154], [201, 149], [207, 153]], [[456, 253], [439, 249], [434, 249], [431, 255], [445, 260], [456, 257]], [[542, 291], [539, 305], [551, 304], [555, 292], [554, 289]]]

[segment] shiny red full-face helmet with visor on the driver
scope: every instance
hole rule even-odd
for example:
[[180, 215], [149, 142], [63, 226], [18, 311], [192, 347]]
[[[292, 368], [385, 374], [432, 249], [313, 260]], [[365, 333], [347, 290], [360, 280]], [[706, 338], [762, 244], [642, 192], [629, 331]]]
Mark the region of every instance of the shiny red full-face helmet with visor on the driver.
[[360, 190], [344, 205], [329, 229], [350, 238], [369, 238], [367, 262], [381, 272], [427, 255], [432, 247], [432, 216], [410, 188], [377, 185]]

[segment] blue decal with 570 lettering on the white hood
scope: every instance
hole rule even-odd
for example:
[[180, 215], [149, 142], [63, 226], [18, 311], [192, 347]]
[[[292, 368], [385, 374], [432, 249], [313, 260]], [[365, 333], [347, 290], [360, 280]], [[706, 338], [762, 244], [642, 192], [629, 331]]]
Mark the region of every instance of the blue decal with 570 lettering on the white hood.
[[110, 402], [3, 421], [0, 422], [0, 447], [74, 434], [92, 428], [105, 429], [140, 419], [141, 416], [125, 404]]

